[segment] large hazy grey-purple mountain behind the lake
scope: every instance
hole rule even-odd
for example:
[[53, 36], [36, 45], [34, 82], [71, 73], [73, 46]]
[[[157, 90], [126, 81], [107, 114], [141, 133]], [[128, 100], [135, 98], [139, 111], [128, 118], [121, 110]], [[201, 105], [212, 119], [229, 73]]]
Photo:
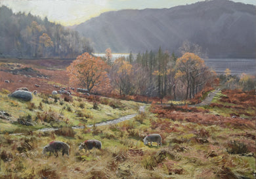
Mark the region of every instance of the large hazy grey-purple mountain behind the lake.
[[177, 52], [183, 41], [209, 57], [256, 57], [256, 8], [226, 0], [163, 9], [105, 12], [75, 27], [95, 52]]

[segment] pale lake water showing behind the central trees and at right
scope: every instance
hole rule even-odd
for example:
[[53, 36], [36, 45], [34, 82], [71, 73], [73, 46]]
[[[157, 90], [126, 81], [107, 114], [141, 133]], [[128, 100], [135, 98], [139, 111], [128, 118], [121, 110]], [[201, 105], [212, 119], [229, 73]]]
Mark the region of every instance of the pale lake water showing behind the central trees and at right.
[[[98, 57], [105, 57], [105, 54], [95, 54]], [[129, 54], [112, 54], [112, 61], [119, 57], [128, 57]], [[136, 54], [133, 54], [136, 57]], [[205, 59], [205, 64], [217, 74], [224, 74], [230, 69], [231, 74], [256, 74], [256, 59]]]

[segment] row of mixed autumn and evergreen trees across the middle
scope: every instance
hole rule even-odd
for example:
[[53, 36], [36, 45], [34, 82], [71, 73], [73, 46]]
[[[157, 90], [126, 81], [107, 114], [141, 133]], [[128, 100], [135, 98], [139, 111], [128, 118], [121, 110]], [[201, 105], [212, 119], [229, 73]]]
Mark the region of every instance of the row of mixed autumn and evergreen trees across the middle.
[[[104, 80], [98, 80], [97, 84], [104, 83], [102, 89], [105, 93], [118, 93], [120, 96], [144, 95], [160, 99], [166, 96], [175, 100], [192, 99], [205, 86], [213, 85], [217, 78], [216, 73], [205, 66], [202, 58], [190, 52], [184, 52], [178, 58], [175, 54], [170, 55], [159, 48], [158, 52], [146, 51], [137, 54], [136, 57], [131, 53], [127, 58], [120, 57], [112, 62], [109, 49], [106, 50], [106, 57], [102, 59], [89, 54], [82, 56], [83, 58], [77, 57], [68, 67], [70, 84], [77, 81], [75, 83], [77, 87], [87, 88], [88, 84], [83, 85], [78, 82], [83, 78], [81, 75], [85, 77], [79, 68], [82, 64], [88, 64], [86, 61], [94, 58], [98, 64], [104, 62], [103, 68], [97, 68], [104, 72]], [[91, 75], [96, 76], [93, 73]], [[110, 84], [106, 84], [105, 75]], [[100, 91], [96, 86], [89, 89]]]

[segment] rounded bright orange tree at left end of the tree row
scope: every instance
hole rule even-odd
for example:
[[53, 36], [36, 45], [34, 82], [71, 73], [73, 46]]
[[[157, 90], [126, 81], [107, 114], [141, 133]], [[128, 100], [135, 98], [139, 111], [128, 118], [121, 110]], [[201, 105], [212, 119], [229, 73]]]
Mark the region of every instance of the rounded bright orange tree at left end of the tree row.
[[106, 70], [109, 66], [100, 57], [91, 56], [89, 53], [81, 54], [67, 67], [70, 85], [102, 90], [110, 87], [110, 80]]

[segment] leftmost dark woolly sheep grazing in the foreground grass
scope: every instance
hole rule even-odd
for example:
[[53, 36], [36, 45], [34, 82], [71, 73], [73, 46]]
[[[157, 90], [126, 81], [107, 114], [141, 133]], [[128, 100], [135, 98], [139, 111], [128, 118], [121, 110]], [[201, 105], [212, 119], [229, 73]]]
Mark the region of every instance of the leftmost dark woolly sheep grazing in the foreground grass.
[[51, 153], [53, 153], [56, 155], [56, 157], [58, 157], [58, 151], [62, 152], [63, 156], [64, 154], [69, 155], [69, 150], [70, 146], [68, 146], [68, 144], [66, 144], [65, 142], [53, 141], [43, 148], [43, 154], [50, 152], [50, 156]]

